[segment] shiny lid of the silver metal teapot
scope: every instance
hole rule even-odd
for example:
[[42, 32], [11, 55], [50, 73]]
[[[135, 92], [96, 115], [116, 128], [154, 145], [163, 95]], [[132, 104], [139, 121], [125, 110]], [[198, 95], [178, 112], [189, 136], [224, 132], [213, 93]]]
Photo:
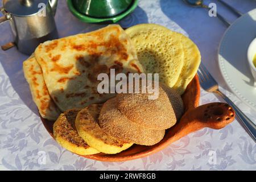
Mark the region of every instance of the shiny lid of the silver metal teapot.
[[16, 16], [30, 16], [46, 8], [48, 0], [3, 0], [3, 8]]

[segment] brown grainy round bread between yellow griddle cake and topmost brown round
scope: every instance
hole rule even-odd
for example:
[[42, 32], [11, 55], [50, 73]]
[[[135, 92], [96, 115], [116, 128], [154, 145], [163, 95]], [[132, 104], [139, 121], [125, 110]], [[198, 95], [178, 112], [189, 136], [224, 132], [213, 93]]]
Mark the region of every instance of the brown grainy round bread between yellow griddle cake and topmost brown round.
[[116, 98], [112, 98], [102, 106], [99, 124], [106, 133], [127, 142], [145, 146], [154, 145], [163, 139], [165, 130], [147, 129], [130, 121], [117, 109], [116, 104]]

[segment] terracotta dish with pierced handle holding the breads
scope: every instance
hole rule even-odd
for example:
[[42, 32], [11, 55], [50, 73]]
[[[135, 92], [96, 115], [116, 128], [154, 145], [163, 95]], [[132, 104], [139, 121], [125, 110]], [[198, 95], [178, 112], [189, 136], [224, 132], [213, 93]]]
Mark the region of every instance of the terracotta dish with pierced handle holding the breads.
[[[197, 130], [203, 129], [204, 127], [221, 129], [234, 120], [235, 112], [228, 104], [215, 102], [198, 106], [200, 99], [200, 84], [197, 75], [188, 85], [182, 99], [185, 109], [183, 117], [175, 126], [166, 130], [164, 138], [154, 146], [140, 146], [138, 144], [134, 144], [119, 154], [110, 155], [100, 153], [95, 155], [84, 155], [83, 157], [105, 162], [121, 162], [143, 158], [162, 150], [172, 142], [179, 140], [189, 133], [193, 133]], [[54, 122], [47, 121], [43, 118], [41, 119], [47, 131], [53, 137], [52, 129]]]

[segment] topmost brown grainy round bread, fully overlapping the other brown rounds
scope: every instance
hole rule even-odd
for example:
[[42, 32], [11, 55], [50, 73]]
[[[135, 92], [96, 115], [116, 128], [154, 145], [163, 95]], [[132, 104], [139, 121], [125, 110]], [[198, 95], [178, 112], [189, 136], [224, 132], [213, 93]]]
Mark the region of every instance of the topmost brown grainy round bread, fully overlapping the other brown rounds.
[[154, 130], [164, 130], [175, 125], [175, 111], [167, 93], [159, 85], [158, 98], [150, 100], [150, 93], [121, 93], [116, 96], [117, 109], [130, 121]]

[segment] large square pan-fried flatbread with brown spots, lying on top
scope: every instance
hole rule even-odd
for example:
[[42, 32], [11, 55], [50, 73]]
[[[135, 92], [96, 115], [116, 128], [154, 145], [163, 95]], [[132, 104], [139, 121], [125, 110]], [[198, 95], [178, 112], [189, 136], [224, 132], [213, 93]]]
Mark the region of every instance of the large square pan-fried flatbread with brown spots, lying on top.
[[136, 49], [118, 25], [40, 44], [35, 57], [49, 94], [62, 111], [84, 108], [113, 97], [99, 94], [100, 73], [143, 72]]

